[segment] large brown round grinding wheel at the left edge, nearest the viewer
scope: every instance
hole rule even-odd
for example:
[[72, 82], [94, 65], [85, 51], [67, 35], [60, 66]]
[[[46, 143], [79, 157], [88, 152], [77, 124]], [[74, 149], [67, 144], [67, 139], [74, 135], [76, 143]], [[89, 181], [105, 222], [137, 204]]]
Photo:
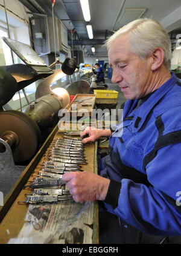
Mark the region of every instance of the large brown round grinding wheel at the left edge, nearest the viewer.
[[37, 124], [26, 114], [16, 111], [0, 111], [0, 137], [5, 134], [16, 134], [16, 143], [11, 147], [14, 162], [30, 159], [40, 143], [41, 133]]

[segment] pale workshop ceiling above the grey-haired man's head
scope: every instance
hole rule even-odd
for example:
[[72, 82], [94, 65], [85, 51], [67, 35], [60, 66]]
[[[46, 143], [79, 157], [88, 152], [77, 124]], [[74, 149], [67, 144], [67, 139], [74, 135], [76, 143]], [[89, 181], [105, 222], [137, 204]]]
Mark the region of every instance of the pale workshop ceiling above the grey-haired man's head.
[[[51, 0], [19, 1], [33, 12], [52, 15]], [[105, 39], [139, 17], [156, 19], [168, 33], [173, 30], [181, 33], [180, 0], [89, 0], [89, 7], [94, 39], [88, 38], [87, 22], [83, 19], [79, 0], [56, 0], [54, 4], [54, 15], [63, 21], [69, 31], [75, 28], [73, 44], [85, 45], [89, 56], [94, 55], [90, 50], [92, 45], [95, 56], [107, 56], [103, 47]]]

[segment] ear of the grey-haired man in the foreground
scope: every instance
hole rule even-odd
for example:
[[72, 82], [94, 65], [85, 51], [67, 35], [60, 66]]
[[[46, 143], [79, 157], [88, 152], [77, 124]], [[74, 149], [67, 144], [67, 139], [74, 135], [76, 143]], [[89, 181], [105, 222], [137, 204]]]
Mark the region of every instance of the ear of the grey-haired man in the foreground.
[[153, 53], [151, 54], [152, 57], [152, 64], [151, 64], [151, 70], [157, 70], [163, 62], [164, 62], [164, 50], [162, 48], [156, 48]]

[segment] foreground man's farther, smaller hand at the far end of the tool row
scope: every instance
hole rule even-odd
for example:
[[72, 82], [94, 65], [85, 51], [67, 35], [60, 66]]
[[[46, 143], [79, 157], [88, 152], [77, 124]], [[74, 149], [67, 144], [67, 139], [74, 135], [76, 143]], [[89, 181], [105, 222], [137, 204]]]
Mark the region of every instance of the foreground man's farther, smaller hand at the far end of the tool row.
[[110, 136], [111, 131], [110, 130], [100, 130], [94, 127], [87, 127], [81, 134], [81, 137], [84, 136], [89, 136], [86, 137], [85, 139], [82, 140], [82, 143], [87, 143], [87, 142], [94, 142], [95, 140], [100, 139], [100, 137], [104, 136]]

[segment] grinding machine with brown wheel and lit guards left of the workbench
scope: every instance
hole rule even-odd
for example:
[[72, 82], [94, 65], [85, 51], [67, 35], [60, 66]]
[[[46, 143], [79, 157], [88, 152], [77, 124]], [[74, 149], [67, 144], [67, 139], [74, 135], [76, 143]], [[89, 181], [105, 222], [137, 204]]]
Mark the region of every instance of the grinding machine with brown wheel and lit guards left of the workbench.
[[[74, 59], [67, 58], [61, 69], [52, 70], [28, 45], [3, 38], [5, 43], [25, 64], [0, 67], [0, 187], [4, 194], [19, 177], [24, 162], [34, 156], [42, 144], [43, 131], [53, 128], [58, 122], [58, 112], [70, 102], [70, 89], [51, 90], [52, 82], [65, 74], [71, 75], [78, 68]], [[14, 94], [43, 79], [36, 90], [36, 100], [31, 102], [25, 113], [16, 110], [3, 110]], [[77, 81], [70, 88], [75, 93], [87, 93], [90, 86], [86, 81]], [[15, 164], [14, 164], [15, 163]]]

